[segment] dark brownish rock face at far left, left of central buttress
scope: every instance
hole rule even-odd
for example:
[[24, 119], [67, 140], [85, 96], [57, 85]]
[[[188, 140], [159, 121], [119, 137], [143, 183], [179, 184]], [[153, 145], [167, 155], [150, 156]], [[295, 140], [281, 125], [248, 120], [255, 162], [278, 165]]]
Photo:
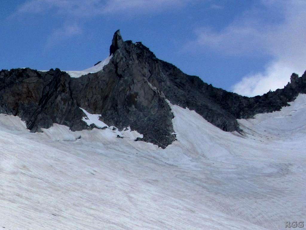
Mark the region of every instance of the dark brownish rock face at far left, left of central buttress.
[[49, 128], [53, 123], [73, 131], [86, 129], [84, 116], [71, 97], [70, 76], [59, 69], [38, 72], [26, 69], [0, 72], [0, 113], [26, 121], [32, 132]]

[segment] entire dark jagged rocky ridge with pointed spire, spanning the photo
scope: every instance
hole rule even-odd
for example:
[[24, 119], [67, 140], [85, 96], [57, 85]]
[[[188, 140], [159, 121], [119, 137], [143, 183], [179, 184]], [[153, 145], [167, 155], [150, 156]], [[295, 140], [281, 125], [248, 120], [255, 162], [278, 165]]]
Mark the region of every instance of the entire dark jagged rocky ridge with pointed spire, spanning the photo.
[[82, 121], [81, 107], [101, 114], [109, 126], [130, 126], [144, 135], [143, 141], [165, 148], [175, 140], [166, 99], [195, 110], [224, 131], [240, 131], [237, 118], [279, 110], [299, 93], [306, 93], [306, 72], [300, 78], [293, 74], [284, 89], [252, 98], [215, 88], [157, 59], [141, 42], [123, 41], [119, 30], [111, 54], [103, 71], [80, 78], [70, 78], [59, 69], [2, 70], [0, 113], [21, 117], [32, 132], [54, 123], [73, 131], [94, 128]]

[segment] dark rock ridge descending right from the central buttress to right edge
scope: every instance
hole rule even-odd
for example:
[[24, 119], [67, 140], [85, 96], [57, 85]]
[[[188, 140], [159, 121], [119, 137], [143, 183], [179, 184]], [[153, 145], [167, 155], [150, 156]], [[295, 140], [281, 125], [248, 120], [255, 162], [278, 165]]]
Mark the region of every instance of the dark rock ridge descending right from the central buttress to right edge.
[[171, 103], [194, 109], [224, 131], [239, 131], [236, 119], [252, 118], [257, 113], [280, 110], [299, 93], [306, 93], [306, 72], [300, 78], [293, 74], [291, 83], [284, 89], [248, 98], [208, 85], [197, 76], [184, 74], [172, 64], [161, 60], [158, 62], [161, 71], [151, 78], [152, 84]]

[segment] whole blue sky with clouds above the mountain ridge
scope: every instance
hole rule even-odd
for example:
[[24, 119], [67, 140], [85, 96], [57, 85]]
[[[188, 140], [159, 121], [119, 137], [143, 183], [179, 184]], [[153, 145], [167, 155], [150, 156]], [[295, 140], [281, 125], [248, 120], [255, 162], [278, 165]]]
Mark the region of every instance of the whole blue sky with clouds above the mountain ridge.
[[120, 29], [204, 82], [263, 94], [306, 70], [304, 9], [304, 0], [2, 0], [0, 69], [86, 69]]

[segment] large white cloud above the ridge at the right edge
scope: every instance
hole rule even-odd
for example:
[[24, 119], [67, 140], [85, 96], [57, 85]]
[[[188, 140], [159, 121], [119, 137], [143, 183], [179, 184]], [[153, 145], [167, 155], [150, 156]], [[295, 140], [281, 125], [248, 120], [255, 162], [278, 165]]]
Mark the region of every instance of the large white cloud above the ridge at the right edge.
[[[222, 55], [269, 55], [265, 70], [245, 76], [233, 91], [255, 96], [284, 87], [293, 72], [306, 69], [306, 1], [263, 1], [264, 10], [247, 11], [219, 32], [202, 28], [196, 31], [196, 44], [211, 47]], [[274, 11], [278, 22], [264, 20]], [[276, 12], [275, 12], [276, 11]], [[241, 63], [243, 65], [243, 63]]]

